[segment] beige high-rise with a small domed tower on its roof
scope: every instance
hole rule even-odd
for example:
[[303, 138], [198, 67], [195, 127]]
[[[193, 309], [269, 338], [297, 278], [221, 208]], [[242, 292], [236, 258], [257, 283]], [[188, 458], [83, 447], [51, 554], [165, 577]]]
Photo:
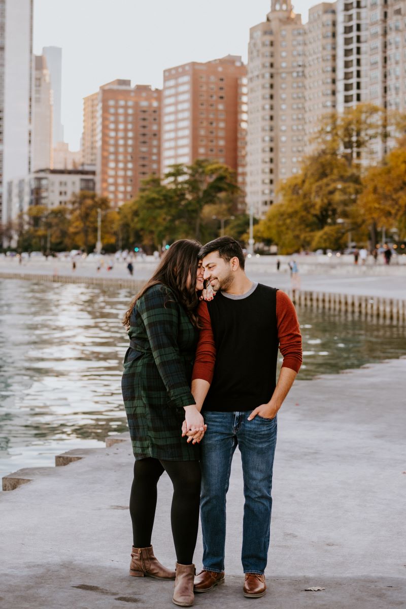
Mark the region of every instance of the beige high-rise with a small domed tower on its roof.
[[248, 46], [247, 206], [264, 217], [304, 153], [306, 30], [290, 0], [271, 1]]

